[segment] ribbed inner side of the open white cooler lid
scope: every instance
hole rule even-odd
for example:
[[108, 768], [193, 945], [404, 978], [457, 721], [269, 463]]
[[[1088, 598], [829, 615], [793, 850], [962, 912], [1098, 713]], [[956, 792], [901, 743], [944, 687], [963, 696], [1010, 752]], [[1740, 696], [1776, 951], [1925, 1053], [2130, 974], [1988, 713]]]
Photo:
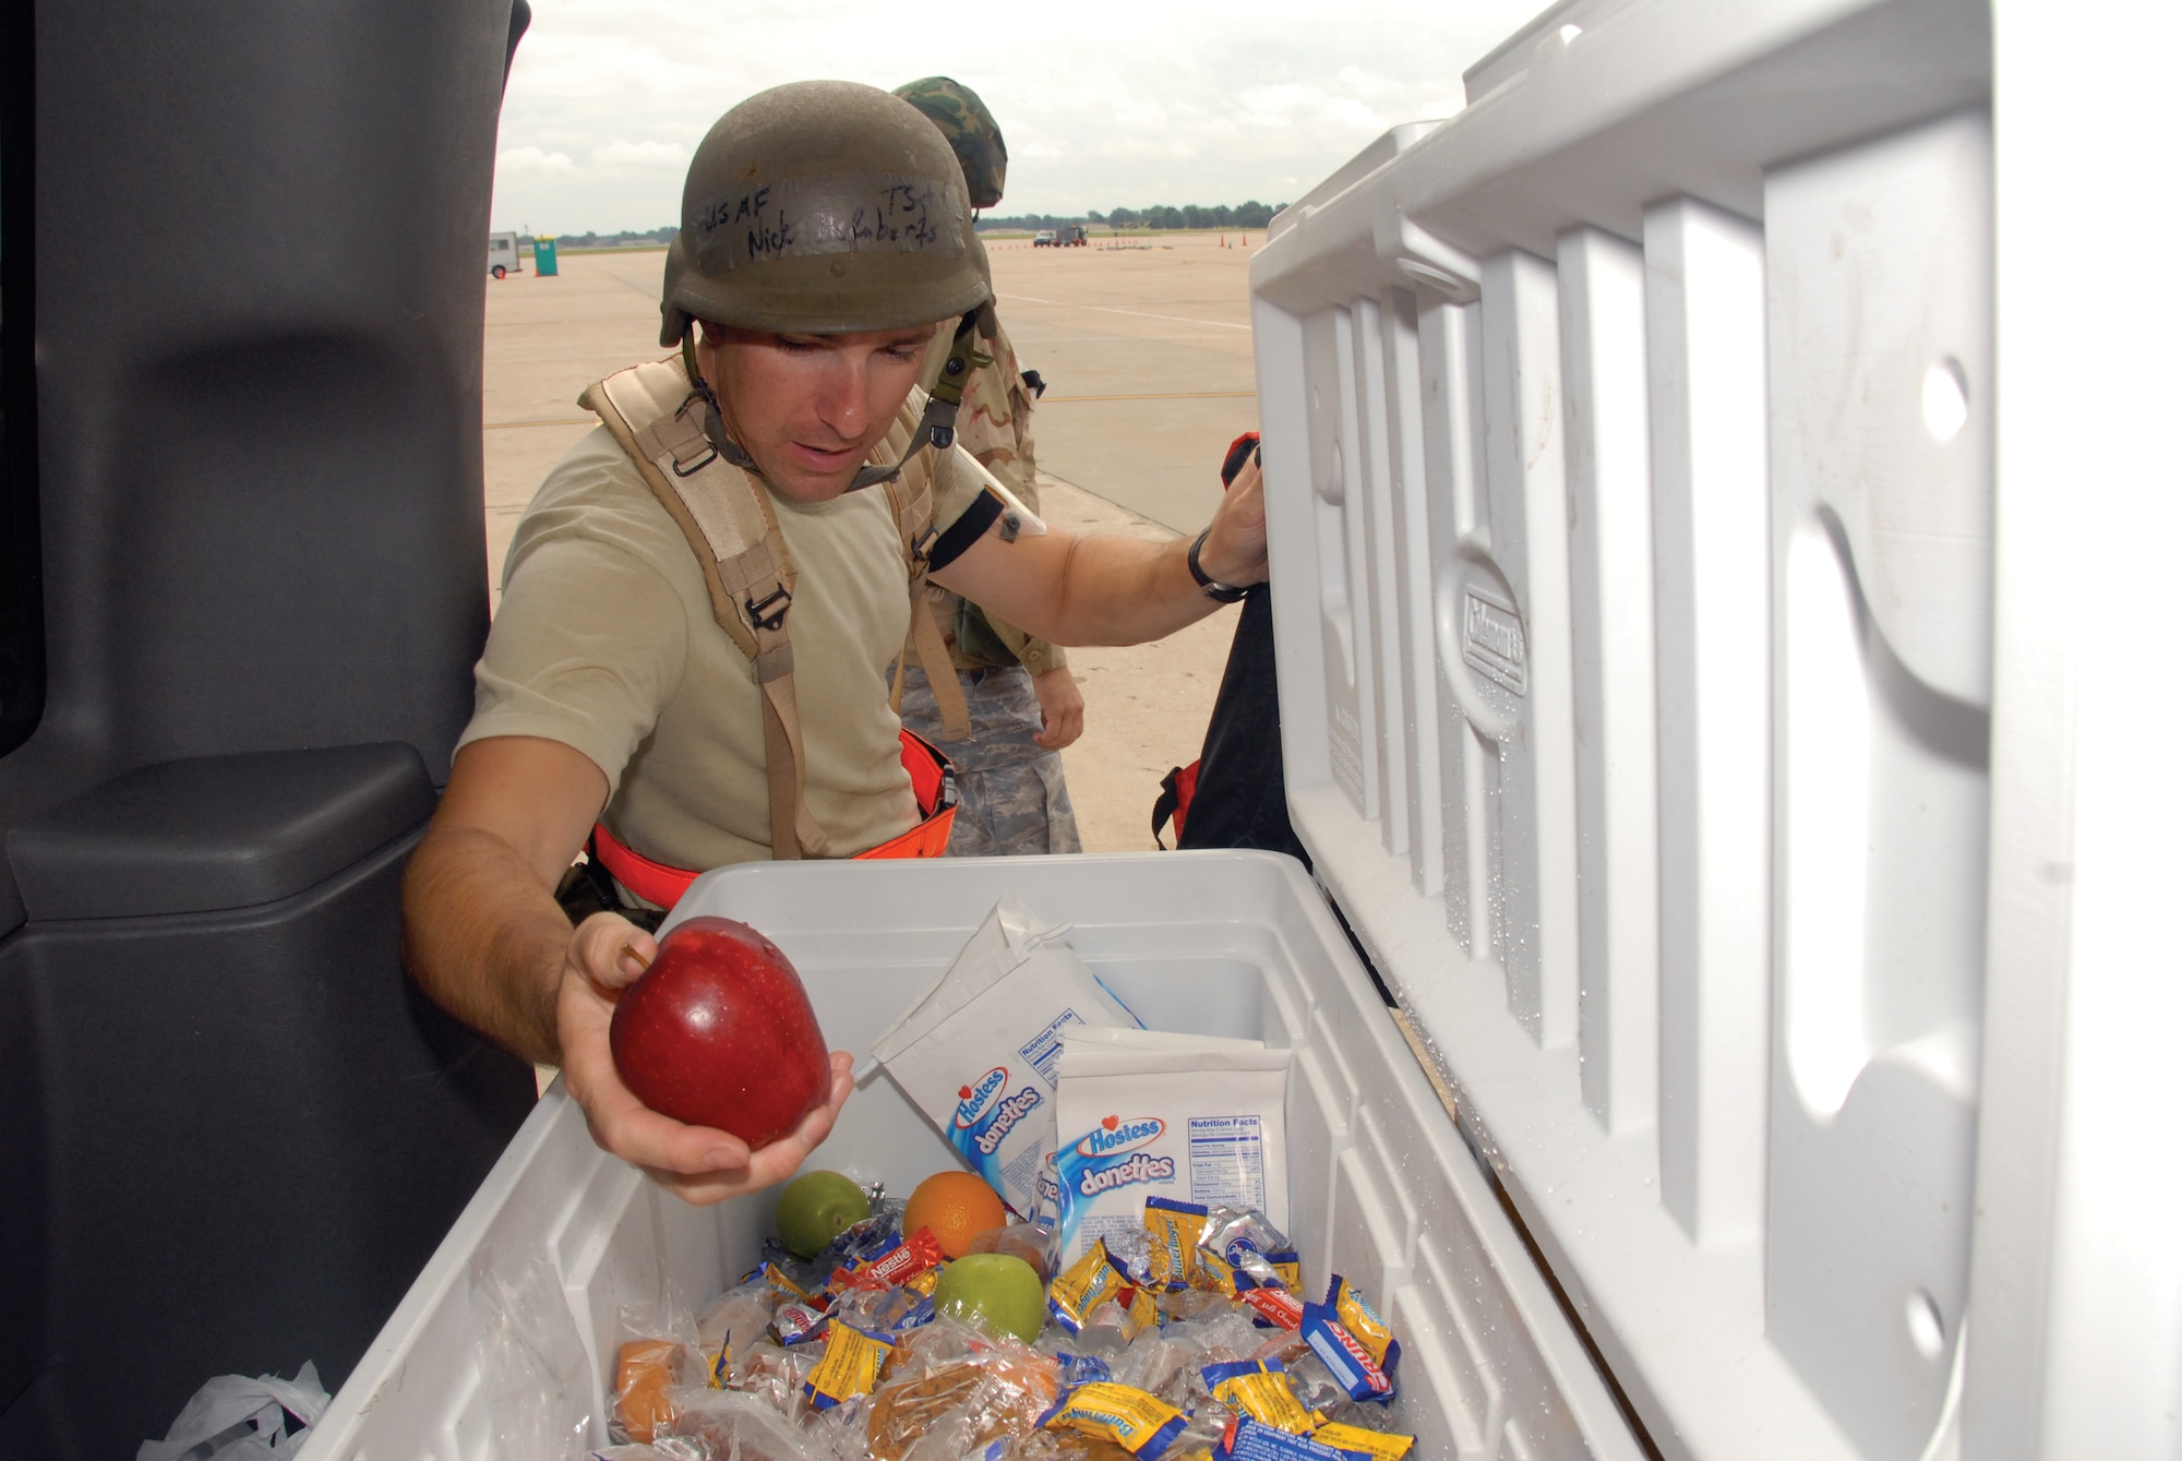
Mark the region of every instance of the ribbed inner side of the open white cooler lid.
[[1955, 1446], [1990, 28], [1562, 4], [1252, 266], [1296, 831], [1667, 1454]]

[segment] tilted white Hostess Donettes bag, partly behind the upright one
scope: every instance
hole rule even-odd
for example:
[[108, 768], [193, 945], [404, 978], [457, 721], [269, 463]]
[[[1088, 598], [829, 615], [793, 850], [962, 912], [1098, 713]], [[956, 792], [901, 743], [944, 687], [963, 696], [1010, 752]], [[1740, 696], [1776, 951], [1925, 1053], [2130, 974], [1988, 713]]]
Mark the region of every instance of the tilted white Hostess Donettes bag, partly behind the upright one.
[[947, 973], [871, 1047], [971, 1171], [1026, 1219], [1036, 1212], [1039, 1162], [1056, 1145], [1063, 1031], [1137, 1025], [1058, 942], [1065, 931], [1008, 894]]

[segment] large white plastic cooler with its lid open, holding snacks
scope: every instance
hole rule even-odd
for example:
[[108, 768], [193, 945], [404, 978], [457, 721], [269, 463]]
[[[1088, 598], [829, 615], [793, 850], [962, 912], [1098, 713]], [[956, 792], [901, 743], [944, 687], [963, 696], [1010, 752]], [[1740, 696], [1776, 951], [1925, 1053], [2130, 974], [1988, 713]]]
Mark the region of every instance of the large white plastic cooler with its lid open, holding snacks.
[[[1274, 220], [1290, 805], [1399, 1018], [1263, 855], [685, 911], [858, 1053], [1002, 892], [1150, 1023], [1294, 1047], [1294, 1236], [1383, 1302], [1420, 1457], [2182, 1457], [2182, 329], [2093, 253], [2165, 207], [2182, 48], [2101, 24], [1567, 0]], [[949, 1158], [879, 1077], [818, 1160]], [[550, 1263], [602, 1415], [618, 1304], [768, 1215], [548, 1095], [303, 1454], [489, 1454], [480, 1243]]]

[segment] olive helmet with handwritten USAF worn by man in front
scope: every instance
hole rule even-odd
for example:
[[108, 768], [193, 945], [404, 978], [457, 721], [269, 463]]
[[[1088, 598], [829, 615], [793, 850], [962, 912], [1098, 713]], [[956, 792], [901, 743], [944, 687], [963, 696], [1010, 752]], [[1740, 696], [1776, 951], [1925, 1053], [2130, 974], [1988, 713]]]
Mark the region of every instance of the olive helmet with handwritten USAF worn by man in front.
[[991, 301], [962, 168], [932, 122], [851, 81], [799, 81], [714, 122], [668, 246], [659, 342], [692, 321], [901, 329]]

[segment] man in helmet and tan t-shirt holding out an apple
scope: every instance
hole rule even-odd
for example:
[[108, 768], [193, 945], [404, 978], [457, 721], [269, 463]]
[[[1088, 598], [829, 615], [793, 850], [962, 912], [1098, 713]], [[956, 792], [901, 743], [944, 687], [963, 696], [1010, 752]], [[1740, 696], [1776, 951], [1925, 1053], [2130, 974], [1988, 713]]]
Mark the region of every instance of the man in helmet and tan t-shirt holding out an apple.
[[[825, 1110], [759, 1151], [646, 1110], [607, 1025], [655, 944], [613, 911], [570, 927], [554, 888], [578, 850], [618, 848], [635, 890], [914, 837], [884, 672], [927, 573], [1056, 643], [1156, 639], [1266, 576], [1255, 471], [1194, 543], [1045, 532], [1008, 502], [951, 445], [988, 307], [932, 122], [849, 83], [753, 96], [690, 166], [661, 310], [681, 360], [585, 393], [604, 425], [508, 547], [478, 711], [410, 859], [410, 968], [559, 1064], [598, 1143], [692, 1202], [786, 1178], [831, 1130], [849, 1058]], [[947, 364], [921, 399], [927, 349]]]

